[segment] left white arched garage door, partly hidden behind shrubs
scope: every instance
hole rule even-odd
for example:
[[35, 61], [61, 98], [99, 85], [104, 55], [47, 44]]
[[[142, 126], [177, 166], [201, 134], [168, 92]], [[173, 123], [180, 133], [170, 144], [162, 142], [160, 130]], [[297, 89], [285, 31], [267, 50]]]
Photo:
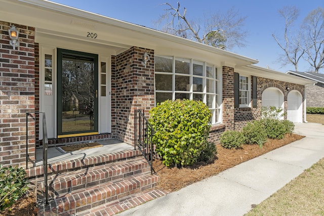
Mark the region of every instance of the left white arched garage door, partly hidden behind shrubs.
[[[281, 108], [283, 113], [284, 95], [276, 88], [268, 88], [262, 93], [262, 106]], [[284, 117], [282, 116], [280, 119], [284, 119]]]

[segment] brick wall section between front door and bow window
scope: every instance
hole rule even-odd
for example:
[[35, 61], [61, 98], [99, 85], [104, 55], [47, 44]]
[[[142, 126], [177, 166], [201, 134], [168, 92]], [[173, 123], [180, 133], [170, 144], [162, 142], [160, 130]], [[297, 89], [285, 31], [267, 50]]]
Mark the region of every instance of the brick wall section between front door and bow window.
[[[141, 65], [144, 52], [150, 56], [146, 67]], [[112, 68], [112, 128], [117, 139], [134, 144], [134, 110], [145, 109], [148, 117], [154, 107], [154, 52], [133, 47], [117, 55]]]

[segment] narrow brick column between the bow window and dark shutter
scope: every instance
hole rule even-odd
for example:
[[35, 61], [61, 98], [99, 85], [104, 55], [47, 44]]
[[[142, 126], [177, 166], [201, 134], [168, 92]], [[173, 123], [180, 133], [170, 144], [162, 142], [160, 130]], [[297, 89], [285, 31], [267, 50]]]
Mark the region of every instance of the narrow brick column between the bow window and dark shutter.
[[223, 123], [234, 130], [234, 68], [223, 66]]

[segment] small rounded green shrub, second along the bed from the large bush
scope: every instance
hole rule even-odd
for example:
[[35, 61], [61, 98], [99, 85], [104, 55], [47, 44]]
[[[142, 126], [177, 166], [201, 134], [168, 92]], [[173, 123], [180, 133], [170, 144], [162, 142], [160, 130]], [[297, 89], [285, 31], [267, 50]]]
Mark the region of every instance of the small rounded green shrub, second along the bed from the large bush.
[[246, 144], [264, 143], [267, 140], [267, 131], [262, 121], [254, 120], [242, 128], [242, 133], [246, 139]]

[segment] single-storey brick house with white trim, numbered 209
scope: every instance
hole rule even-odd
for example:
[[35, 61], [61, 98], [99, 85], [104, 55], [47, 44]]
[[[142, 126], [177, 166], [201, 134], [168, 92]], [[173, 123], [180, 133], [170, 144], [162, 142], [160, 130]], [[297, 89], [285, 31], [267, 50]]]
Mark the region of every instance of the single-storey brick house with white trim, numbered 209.
[[[281, 107], [294, 122], [305, 119], [305, 85], [315, 83], [308, 78], [48, 1], [0, 0], [0, 5], [2, 164], [25, 165], [25, 112], [46, 113], [50, 146], [102, 139], [134, 145], [134, 110], [144, 109], [148, 117], [166, 99], [205, 102], [213, 114], [210, 137], [216, 143], [225, 130], [240, 130], [258, 119], [262, 106]], [[12, 25], [19, 30], [15, 49], [8, 32]], [[75, 112], [66, 100], [76, 92], [93, 118], [81, 127], [68, 120]], [[29, 118], [28, 128], [33, 158], [38, 121]]]

